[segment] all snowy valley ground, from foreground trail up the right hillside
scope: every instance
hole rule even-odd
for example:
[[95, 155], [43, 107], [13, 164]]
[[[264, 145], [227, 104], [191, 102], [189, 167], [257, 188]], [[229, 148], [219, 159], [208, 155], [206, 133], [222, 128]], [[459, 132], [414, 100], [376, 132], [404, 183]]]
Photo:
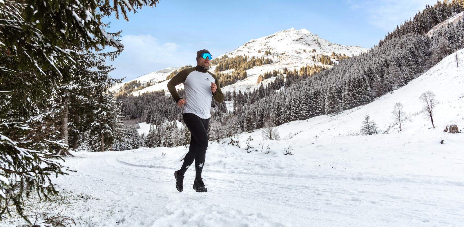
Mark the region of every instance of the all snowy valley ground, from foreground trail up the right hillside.
[[[263, 140], [256, 130], [237, 136], [240, 147], [230, 139], [210, 143], [207, 193], [192, 189], [193, 169], [184, 191], [175, 189], [185, 146], [75, 152], [65, 164], [77, 172], [55, 183], [91, 199], [72, 200], [62, 214], [82, 227], [463, 226], [464, 133], [443, 132], [451, 123], [464, 126], [464, 50], [458, 59], [459, 68], [452, 54], [365, 106], [278, 126], [281, 140]], [[427, 90], [440, 102], [435, 129], [419, 114]], [[407, 113], [401, 132], [391, 114], [396, 102]], [[388, 133], [354, 135], [365, 114], [382, 131], [391, 126]], [[250, 136], [258, 151], [247, 153]]]

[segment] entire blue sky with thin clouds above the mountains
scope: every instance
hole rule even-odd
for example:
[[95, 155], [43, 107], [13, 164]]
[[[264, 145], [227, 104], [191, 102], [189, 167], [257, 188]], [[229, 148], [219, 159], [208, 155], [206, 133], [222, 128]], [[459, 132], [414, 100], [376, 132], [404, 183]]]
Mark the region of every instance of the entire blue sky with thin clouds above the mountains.
[[251, 39], [284, 29], [307, 29], [332, 43], [374, 47], [387, 32], [434, 0], [160, 0], [156, 7], [113, 17], [108, 32], [122, 30], [124, 51], [113, 78], [124, 81], [168, 67], [196, 65], [197, 50], [213, 57]]

